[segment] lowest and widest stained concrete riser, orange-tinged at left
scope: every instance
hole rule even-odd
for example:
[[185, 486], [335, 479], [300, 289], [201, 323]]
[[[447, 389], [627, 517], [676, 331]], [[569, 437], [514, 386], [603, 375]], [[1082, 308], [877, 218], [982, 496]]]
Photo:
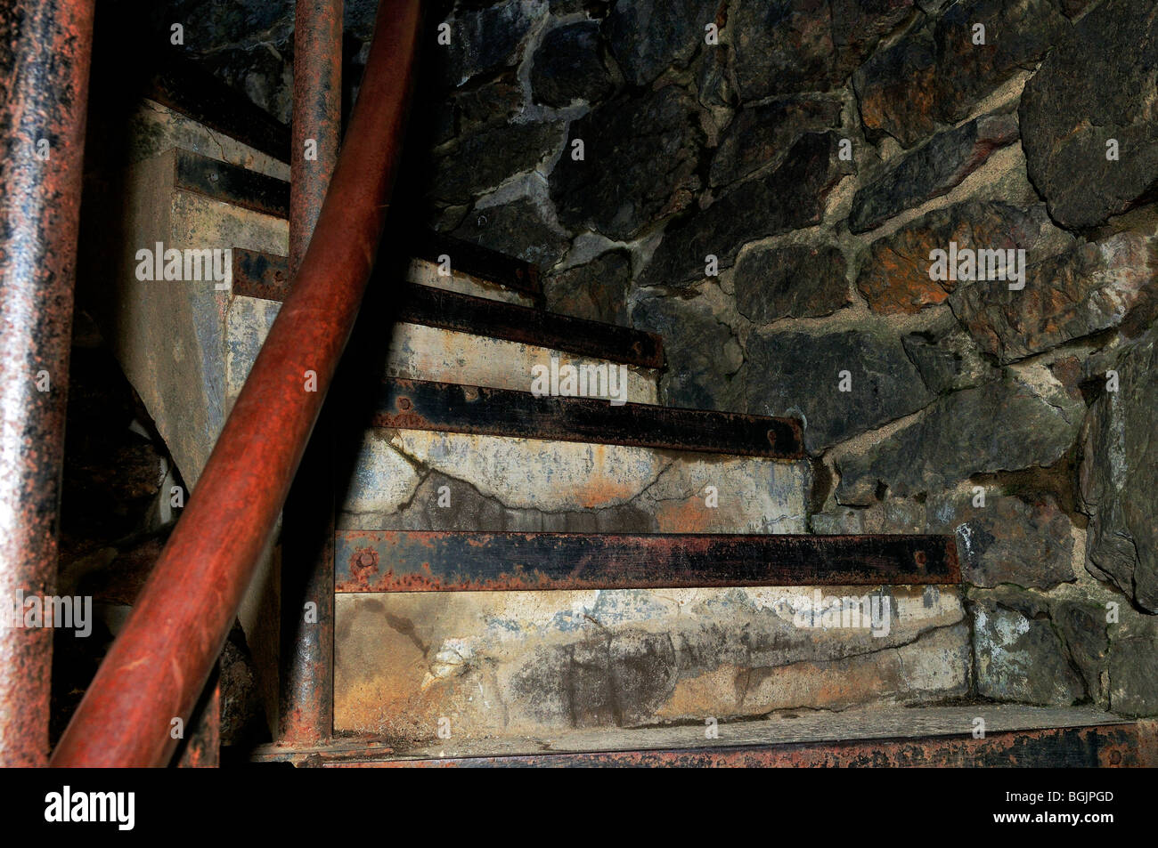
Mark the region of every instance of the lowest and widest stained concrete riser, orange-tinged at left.
[[[339, 595], [335, 727], [455, 739], [962, 695], [955, 590], [889, 600], [889, 632], [796, 622], [808, 588]], [[806, 620], [806, 619], [804, 619]]]

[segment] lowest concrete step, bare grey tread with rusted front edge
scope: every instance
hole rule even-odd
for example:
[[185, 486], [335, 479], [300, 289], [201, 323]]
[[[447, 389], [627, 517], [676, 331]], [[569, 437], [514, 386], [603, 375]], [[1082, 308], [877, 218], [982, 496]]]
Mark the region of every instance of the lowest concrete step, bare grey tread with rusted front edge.
[[[977, 736], [977, 720], [984, 722]], [[335, 739], [265, 746], [256, 762], [299, 767], [1155, 767], [1158, 722], [1090, 708], [961, 707], [792, 710], [757, 721], [570, 730], [501, 739], [390, 745]], [[433, 732], [432, 732], [433, 736]]]

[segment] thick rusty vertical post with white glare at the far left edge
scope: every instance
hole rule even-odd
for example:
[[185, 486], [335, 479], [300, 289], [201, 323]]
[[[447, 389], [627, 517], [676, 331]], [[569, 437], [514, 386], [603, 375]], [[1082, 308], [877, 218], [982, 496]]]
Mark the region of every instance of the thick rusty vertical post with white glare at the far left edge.
[[[93, 0], [0, 5], [0, 614], [51, 595]], [[22, 610], [21, 610], [22, 612]], [[0, 766], [49, 752], [52, 631], [0, 625]]]

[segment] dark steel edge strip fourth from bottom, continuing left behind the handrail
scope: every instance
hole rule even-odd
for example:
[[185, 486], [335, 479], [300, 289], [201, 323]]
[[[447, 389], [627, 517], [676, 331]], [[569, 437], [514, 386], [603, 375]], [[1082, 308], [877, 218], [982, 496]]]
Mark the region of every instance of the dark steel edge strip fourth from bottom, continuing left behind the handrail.
[[[270, 301], [285, 298], [290, 290], [285, 257], [247, 248], [234, 248], [232, 255], [234, 294]], [[400, 287], [394, 280], [380, 279], [380, 273], [384, 272], [376, 270], [372, 279], [401, 294], [398, 311], [393, 317], [402, 323], [519, 341], [640, 368], [664, 367], [664, 341], [654, 333], [431, 286]]]

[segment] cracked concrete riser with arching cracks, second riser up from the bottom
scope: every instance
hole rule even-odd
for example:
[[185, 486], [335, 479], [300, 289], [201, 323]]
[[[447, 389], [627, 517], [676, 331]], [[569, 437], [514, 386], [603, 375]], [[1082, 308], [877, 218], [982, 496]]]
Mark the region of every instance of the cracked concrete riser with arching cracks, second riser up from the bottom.
[[[367, 430], [346, 530], [804, 532], [808, 463], [424, 430]], [[439, 507], [447, 486], [449, 507]], [[706, 506], [708, 487], [719, 506]]]

